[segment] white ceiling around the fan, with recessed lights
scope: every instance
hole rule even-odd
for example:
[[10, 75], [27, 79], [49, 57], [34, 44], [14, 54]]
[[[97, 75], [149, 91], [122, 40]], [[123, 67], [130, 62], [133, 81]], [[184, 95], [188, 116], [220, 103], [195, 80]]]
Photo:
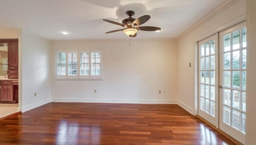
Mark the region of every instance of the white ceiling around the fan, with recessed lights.
[[[174, 38], [204, 18], [225, 0], [0, 0], [0, 26], [21, 28], [48, 39], [125, 39], [119, 25], [127, 10], [133, 18], [148, 14], [143, 26], [161, 27], [159, 33], [139, 31], [136, 38]], [[62, 35], [68, 31], [69, 35]]]

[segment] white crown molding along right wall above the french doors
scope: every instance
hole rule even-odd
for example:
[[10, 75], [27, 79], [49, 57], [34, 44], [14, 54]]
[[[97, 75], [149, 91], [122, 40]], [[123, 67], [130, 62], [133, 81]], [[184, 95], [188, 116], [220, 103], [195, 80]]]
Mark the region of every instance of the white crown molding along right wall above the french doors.
[[206, 22], [208, 22], [209, 20], [211, 20], [212, 18], [217, 16], [220, 12], [226, 10], [229, 6], [231, 6], [232, 4], [236, 3], [237, 1], [238, 0], [225, 0], [225, 2], [223, 2], [220, 6], [218, 6], [218, 8], [216, 8], [210, 14], [205, 16], [202, 20], [200, 20], [199, 22], [194, 24], [192, 27], [190, 27], [189, 29], [184, 31], [182, 34], [180, 34], [177, 37], [177, 39], [179, 40], [179, 39], [183, 38], [184, 36], [186, 36], [188, 33], [191, 33], [192, 31], [194, 31], [195, 29], [197, 29], [201, 25], [205, 24]]

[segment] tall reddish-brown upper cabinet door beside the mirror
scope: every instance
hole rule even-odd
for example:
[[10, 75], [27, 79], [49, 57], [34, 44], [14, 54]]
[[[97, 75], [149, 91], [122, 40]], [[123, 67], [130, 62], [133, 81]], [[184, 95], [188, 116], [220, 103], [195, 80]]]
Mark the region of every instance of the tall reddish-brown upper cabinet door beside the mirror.
[[8, 43], [8, 67], [18, 68], [18, 43]]

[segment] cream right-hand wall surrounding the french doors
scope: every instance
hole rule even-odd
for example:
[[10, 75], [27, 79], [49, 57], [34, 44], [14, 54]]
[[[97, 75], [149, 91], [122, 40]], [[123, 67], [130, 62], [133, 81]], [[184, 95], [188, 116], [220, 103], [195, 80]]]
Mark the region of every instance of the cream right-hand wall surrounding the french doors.
[[[214, 35], [223, 25], [245, 17], [246, 0], [238, 0], [216, 16], [178, 40], [178, 100], [180, 105], [196, 114], [195, 108], [195, 41]], [[210, 35], [209, 35], [210, 34]], [[192, 67], [189, 67], [192, 63]]]

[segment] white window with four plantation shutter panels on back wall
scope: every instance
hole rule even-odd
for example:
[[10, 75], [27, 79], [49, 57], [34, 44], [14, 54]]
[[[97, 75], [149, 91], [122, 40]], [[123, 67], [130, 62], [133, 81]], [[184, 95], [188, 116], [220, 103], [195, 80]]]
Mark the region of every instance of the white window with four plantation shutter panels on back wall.
[[102, 50], [56, 51], [56, 79], [102, 79]]

